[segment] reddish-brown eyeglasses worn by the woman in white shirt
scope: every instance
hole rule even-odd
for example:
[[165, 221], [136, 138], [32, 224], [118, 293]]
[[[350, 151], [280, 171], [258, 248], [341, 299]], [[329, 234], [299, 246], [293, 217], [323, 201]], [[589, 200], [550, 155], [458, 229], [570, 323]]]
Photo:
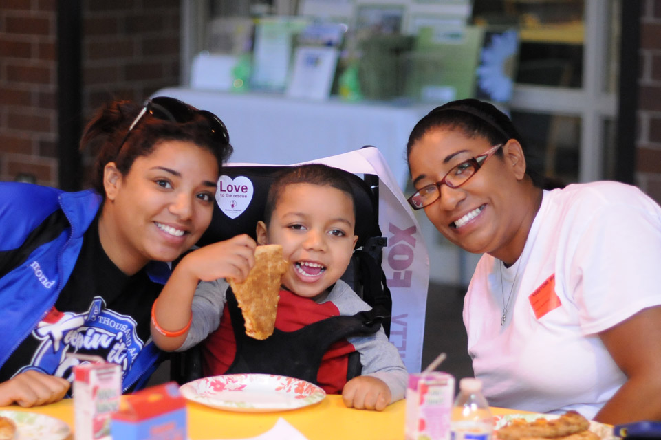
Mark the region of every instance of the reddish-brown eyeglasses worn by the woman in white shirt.
[[487, 151], [485, 151], [484, 154], [471, 157], [461, 164], [453, 166], [453, 168], [451, 168], [451, 170], [449, 170], [442, 179], [437, 181], [435, 184], [427, 185], [424, 188], [421, 188], [418, 190], [418, 192], [415, 192], [414, 195], [409, 197], [407, 201], [415, 210], [422, 209], [425, 206], [431, 205], [431, 203], [434, 203], [441, 197], [442, 184], [446, 184], [450, 188], [459, 188], [459, 186], [462, 186], [468, 180], [470, 180], [470, 177], [473, 177], [475, 173], [477, 173], [477, 170], [479, 170], [479, 168], [484, 165], [486, 159], [494, 155], [494, 153], [498, 151], [498, 148], [501, 148], [503, 145], [505, 144], [492, 146]]

